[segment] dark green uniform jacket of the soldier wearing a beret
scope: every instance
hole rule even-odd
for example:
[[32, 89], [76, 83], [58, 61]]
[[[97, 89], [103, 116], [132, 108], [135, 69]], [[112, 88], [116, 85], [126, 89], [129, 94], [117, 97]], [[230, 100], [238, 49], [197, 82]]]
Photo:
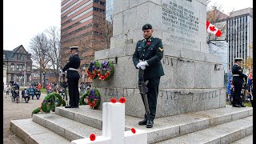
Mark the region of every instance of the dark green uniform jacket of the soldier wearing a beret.
[[[148, 40], [140, 40], [137, 42], [136, 50], [133, 54], [133, 62], [136, 67], [138, 62], [146, 61], [149, 66], [144, 70], [144, 78], [150, 79], [161, 77], [164, 75], [161, 59], [163, 56], [162, 40], [159, 38], [149, 38]], [[136, 69], [138, 69], [136, 67]], [[138, 78], [141, 78], [141, 70], [139, 70]]]

